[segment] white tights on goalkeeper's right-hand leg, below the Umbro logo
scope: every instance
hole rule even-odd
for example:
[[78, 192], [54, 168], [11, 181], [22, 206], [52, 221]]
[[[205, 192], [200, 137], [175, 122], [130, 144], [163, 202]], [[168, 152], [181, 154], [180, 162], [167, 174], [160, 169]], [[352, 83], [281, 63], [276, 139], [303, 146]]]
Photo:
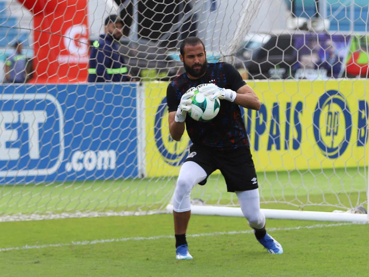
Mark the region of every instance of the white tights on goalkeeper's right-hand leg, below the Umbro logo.
[[236, 191], [242, 213], [250, 227], [261, 229], [265, 226], [265, 215], [260, 210], [259, 189], [250, 191]]

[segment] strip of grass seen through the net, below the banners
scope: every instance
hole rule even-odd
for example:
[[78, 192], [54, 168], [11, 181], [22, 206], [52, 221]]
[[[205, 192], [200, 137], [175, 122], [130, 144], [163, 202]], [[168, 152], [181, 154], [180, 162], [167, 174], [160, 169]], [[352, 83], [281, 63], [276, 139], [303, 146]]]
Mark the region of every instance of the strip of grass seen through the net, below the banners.
[[[259, 173], [262, 207], [312, 211], [355, 207], [366, 200], [365, 175], [364, 168]], [[6, 185], [0, 187], [0, 215], [164, 209], [174, 188], [173, 177]], [[206, 204], [237, 203], [221, 175], [212, 175], [204, 186], [196, 185], [192, 196]]]

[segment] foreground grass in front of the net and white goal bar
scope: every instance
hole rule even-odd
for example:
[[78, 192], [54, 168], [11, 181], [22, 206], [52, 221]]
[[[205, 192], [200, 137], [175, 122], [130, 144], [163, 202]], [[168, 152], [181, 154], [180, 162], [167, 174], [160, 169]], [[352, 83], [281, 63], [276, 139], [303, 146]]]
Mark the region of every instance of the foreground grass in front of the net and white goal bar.
[[[316, 224], [323, 224], [317, 227]], [[172, 215], [75, 218], [0, 223], [0, 248], [65, 246], [0, 252], [1, 276], [366, 276], [369, 225], [267, 220], [282, 255], [266, 252], [250, 233], [188, 237], [191, 261], [175, 260]], [[243, 218], [193, 215], [187, 234], [250, 230]], [[90, 245], [72, 241], [151, 237]]]

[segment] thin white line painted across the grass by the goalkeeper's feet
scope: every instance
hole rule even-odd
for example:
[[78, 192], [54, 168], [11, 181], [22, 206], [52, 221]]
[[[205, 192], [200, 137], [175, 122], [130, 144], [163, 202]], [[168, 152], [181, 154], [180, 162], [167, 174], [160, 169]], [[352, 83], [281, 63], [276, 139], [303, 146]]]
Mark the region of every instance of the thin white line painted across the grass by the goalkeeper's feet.
[[[357, 223], [315, 224], [315, 225], [309, 225], [309, 226], [297, 226], [297, 227], [286, 227], [286, 228], [267, 228], [267, 230], [268, 232], [275, 232], [275, 231], [313, 229], [313, 228], [334, 227], [334, 226], [344, 226], [344, 225], [361, 225], [361, 224], [366, 224], [366, 223], [357, 222]], [[187, 237], [222, 236], [222, 235], [237, 235], [237, 234], [248, 234], [248, 233], [254, 233], [254, 230], [200, 233], [200, 234], [187, 235]], [[93, 244], [107, 243], [107, 242], [125, 242], [127, 240], [173, 239], [173, 237], [174, 237], [173, 235], [155, 236], [155, 237], [123, 237], [121, 239], [101, 239], [101, 240], [85, 240], [82, 242], [70, 242], [70, 243], [58, 243], [58, 244], [24, 245], [24, 246], [19, 246], [19, 247], [0, 248], [0, 252], [13, 251], [13, 250], [25, 250], [25, 249], [40, 249], [40, 248], [49, 248], [49, 247], [61, 247], [61, 246], [73, 246], [73, 245], [76, 245], [76, 246], [77, 245], [93, 245]]]

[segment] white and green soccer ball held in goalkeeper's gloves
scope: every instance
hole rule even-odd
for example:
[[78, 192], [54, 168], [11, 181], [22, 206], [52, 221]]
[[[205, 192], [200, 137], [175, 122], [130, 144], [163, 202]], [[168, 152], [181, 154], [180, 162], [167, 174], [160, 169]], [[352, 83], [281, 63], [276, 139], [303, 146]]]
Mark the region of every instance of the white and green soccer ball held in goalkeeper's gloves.
[[195, 95], [191, 99], [191, 110], [188, 114], [192, 119], [206, 122], [217, 116], [220, 109], [219, 99], [211, 100], [199, 90], [195, 90]]

